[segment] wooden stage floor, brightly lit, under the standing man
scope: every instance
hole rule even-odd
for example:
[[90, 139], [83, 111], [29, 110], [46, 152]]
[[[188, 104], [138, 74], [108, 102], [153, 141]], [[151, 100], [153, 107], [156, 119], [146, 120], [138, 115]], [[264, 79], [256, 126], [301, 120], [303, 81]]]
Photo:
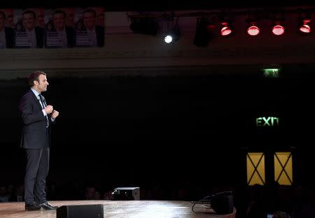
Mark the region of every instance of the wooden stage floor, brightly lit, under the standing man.
[[[111, 218], [235, 218], [230, 215], [214, 215], [213, 210], [198, 204], [193, 212], [189, 201], [49, 201], [52, 205], [104, 205], [104, 217]], [[1, 218], [55, 218], [56, 210], [25, 211], [24, 202], [0, 203]], [[80, 218], [80, 217], [78, 217]]]

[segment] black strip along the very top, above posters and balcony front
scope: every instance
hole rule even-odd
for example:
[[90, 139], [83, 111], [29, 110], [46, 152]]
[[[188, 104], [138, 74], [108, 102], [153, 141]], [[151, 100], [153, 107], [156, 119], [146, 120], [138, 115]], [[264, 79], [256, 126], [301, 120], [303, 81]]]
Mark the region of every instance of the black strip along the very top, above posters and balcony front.
[[314, 6], [314, 0], [243, 0], [243, 1], [211, 1], [211, 0], [10, 0], [1, 2], [0, 8], [34, 8], [34, 7], [87, 7], [103, 6], [107, 11], [124, 10], [201, 10], [216, 8], [256, 8], [284, 6]]

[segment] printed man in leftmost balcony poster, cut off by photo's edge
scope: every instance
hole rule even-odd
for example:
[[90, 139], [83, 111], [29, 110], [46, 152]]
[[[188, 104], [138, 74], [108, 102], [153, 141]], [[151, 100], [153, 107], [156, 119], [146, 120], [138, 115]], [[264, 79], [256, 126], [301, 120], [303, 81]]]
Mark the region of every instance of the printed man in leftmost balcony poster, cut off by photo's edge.
[[0, 10], [0, 48], [13, 48], [14, 30], [5, 27], [6, 14]]

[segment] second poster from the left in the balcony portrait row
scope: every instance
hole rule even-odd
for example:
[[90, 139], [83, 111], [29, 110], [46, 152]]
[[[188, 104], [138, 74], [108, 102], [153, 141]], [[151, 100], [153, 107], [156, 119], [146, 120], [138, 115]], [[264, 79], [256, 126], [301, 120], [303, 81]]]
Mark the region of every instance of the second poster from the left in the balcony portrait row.
[[[15, 48], [43, 48], [43, 27], [40, 27], [43, 9], [15, 10]], [[39, 19], [38, 19], [39, 18]]]

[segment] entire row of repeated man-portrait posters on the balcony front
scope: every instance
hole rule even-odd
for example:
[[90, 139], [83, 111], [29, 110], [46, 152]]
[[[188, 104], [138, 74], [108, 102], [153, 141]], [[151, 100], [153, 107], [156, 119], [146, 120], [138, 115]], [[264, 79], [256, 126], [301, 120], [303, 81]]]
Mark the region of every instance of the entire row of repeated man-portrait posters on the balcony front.
[[104, 47], [104, 8], [0, 9], [0, 49]]

